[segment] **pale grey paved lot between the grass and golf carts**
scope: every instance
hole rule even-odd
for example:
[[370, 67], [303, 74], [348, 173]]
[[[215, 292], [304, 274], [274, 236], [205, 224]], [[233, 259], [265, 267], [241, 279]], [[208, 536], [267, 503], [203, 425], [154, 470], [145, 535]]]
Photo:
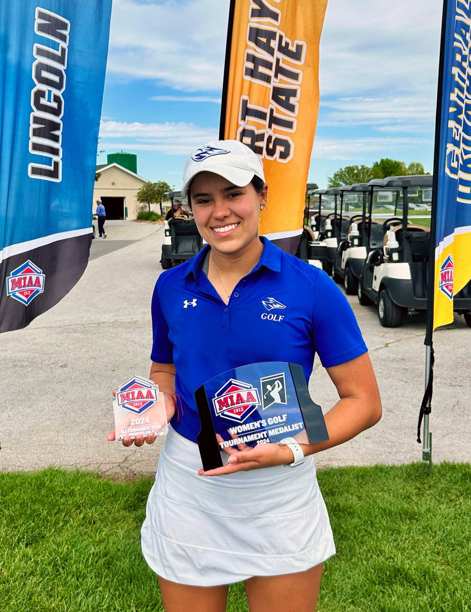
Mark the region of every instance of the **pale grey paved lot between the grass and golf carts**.
[[[0, 470], [49, 465], [99, 469], [115, 477], [153, 474], [161, 440], [141, 449], [107, 442], [113, 428], [111, 389], [147, 376], [150, 300], [160, 274], [161, 224], [107, 221], [85, 274], [70, 293], [26, 329], [0, 334]], [[383, 400], [383, 419], [317, 465], [409, 463], [421, 459], [416, 422], [424, 388], [424, 317], [381, 327], [373, 307], [349, 297], [369, 346]], [[435, 332], [433, 458], [471, 461], [471, 329], [456, 317]], [[312, 397], [336, 401], [316, 359]]]

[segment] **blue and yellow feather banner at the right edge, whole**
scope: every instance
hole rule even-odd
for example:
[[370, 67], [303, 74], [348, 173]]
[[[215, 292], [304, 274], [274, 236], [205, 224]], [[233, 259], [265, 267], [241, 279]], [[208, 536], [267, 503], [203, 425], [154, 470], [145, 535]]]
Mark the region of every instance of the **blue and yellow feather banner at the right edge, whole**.
[[442, 114], [439, 125], [434, 322], [453, 321], [471, 298], [457, 295], [471, 279], [471, 6], [445, 0], [445, 39], [440, 67]]

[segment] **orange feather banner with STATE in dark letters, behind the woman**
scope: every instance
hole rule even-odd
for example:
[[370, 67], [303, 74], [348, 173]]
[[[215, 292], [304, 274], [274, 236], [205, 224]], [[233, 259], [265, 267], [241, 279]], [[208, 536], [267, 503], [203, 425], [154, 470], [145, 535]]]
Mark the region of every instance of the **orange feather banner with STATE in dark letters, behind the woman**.
[[326, 6], [327, 0], [235, 0], [224, 138], [263, 159], [269, 189], [260, 234], [270, 239], [303, 228]]

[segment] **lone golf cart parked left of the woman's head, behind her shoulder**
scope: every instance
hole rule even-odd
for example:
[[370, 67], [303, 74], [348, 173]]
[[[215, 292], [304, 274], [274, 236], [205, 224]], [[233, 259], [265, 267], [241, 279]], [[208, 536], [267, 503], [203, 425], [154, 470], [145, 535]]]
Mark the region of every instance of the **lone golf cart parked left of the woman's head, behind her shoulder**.
[[173, 204], [175, 201], [181, 202], [181, 192], [170, 192], [165, 196], [170, 198], [171, 217], [164, 224], [165, 237], [160, 264], [164, 270], [168, 270], [199, 253], [203, 248], [203, 239], [192, 217], [173, 216]]

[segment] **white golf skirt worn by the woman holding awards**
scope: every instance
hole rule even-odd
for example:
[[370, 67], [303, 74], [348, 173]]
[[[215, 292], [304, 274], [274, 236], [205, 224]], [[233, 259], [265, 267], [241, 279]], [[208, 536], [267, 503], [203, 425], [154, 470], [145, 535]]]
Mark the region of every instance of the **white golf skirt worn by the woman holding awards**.
[[227, 476], [200, 468], [197, 444], [169, 427], [141, 529], [143, 555], [162, 578], [230, 584], [303, 572], [335, 554], [312, 456]]

